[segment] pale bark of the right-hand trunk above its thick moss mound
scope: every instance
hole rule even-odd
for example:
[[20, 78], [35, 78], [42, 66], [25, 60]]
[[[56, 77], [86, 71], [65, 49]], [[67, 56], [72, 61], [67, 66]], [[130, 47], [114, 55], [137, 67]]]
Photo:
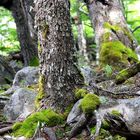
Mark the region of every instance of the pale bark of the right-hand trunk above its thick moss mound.
[[[85, 0], [85, 2], [95, 30], [97, 48], [100, 52], [103, 43], [114, 41], [119, 41], [133, 50], [136, 48], [137, 42], [127, 27], [121, 0]], [[101, 55], [100, 53], [99, 61], [102, 63]]]

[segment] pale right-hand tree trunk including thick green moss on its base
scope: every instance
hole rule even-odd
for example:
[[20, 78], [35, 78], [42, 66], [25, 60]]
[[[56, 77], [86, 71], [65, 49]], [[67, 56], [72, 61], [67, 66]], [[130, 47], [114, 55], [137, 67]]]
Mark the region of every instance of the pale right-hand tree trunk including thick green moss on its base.
[[121, 0], [85, 0], [85, 2], [95, 30], [100, 64], [129, 66], [137, 56], [133, 52], [127, 56], [129, 50], [125, 47], [134, 50], [137, 42], [127, 27]]

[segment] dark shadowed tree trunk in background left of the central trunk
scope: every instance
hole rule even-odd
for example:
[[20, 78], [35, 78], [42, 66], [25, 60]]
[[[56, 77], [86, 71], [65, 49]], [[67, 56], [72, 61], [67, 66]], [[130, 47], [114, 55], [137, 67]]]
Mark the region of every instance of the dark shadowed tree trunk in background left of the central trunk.
[[37, 34], [34, 30], [33, 0], [1, 0], [0, 6], [9, 9], [15, 19], [24, 65], [38, 58]]

